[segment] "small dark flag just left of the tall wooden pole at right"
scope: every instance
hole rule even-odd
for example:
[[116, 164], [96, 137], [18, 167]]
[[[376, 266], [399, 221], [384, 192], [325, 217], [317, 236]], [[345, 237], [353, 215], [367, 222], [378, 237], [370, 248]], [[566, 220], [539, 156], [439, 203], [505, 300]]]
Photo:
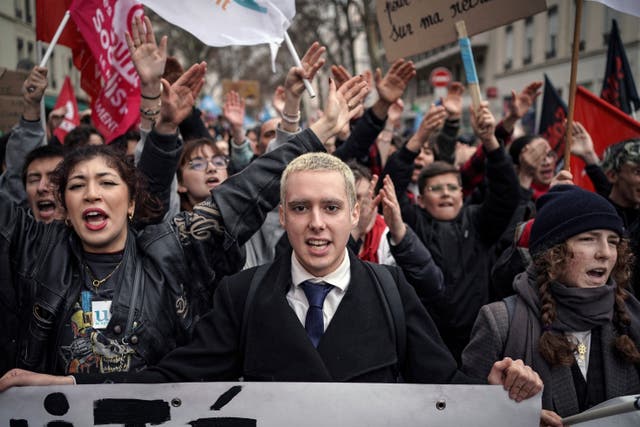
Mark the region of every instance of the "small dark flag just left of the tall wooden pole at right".
[[564, 121], [566, 118], [567, 106], [551, 84], [549, 76], [545, 74], [538, 134], [549, 141], [549, 145], [558, 154], [558, 158], [562, 158], [564, 154]]

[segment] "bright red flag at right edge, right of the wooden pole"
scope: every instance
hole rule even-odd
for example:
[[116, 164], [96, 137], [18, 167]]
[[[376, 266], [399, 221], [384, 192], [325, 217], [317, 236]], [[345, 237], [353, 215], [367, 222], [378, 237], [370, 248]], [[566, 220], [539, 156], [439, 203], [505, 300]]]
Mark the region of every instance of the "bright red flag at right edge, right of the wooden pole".
[[[582, 123], [591, 135], [595, 152], [600, 158], [609, 145], [640, 137], [640, 122], [580, 86], [576, 91], [573, 114], [573, 119]], [[593, 190], [591, 180], [584, 173], [584, 166], [582, 160], [572, 156], [574, 182], [582, 188]]]

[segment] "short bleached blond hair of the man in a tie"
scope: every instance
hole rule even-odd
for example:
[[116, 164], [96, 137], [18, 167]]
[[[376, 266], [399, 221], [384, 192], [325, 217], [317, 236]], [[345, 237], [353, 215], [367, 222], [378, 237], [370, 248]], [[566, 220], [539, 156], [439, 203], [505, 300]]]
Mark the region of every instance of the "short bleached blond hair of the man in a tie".
[[349, 207], [356, 205], [356, 184], [351, 168], [336, 156], [327, 153], [307, 153], [296, 157], [282, 173], [280, 178], [280, 203], [284, 203], [287, 194], [287, 181], [296, 172], [327, 171], [338, 172], [344, 179], [344, 187]]

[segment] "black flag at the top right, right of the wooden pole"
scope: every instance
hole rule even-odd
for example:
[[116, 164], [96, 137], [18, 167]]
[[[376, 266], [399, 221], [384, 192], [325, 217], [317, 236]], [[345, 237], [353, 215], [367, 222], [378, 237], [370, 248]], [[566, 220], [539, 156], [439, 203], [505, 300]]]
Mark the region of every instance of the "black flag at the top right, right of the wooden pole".
[[[618, 22], [614, 19], [609, 34], [609, 50], [607, 52], [607, 68], [604, 72], [604, 83], [600, 98], [627, 114], [640, 108], [640, 98], [633, 82], [631, 68], [624, 45], [620, 40]], [[633, 105], [632, 105], [633, 104]]]

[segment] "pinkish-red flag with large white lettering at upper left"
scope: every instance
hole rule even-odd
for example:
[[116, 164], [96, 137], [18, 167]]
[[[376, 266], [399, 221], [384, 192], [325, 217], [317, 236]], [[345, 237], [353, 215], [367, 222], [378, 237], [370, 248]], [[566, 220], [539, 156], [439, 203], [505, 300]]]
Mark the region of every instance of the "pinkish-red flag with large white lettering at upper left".
[[140, 116], [140, 81], [124, 33], [143, 7], [136, 0], [74, 0], [70, 10], [92, 54], [82, 88], [91, 95], [91, 118], [109, 143]]

